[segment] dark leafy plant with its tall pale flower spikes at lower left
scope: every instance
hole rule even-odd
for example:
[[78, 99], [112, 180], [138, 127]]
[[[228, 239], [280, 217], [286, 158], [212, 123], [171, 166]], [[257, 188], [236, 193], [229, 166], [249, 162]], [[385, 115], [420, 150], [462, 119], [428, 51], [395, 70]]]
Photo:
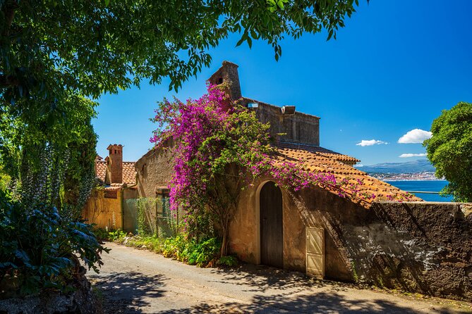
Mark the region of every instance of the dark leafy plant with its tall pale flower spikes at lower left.
[[[28, 151], [23, 148], [23, 154]], [[99, 254], [107, 251], [92, 226], [76, 218], [77, 208], [61, 202], [68, 165], [62, 152], [37, 145], [32, 155], [41, 163], [23, 163], [12, 194], [0, 190], [0, 279], [22, 294], [64, 291], [80, 270], [78, 258], [98, 271]]]

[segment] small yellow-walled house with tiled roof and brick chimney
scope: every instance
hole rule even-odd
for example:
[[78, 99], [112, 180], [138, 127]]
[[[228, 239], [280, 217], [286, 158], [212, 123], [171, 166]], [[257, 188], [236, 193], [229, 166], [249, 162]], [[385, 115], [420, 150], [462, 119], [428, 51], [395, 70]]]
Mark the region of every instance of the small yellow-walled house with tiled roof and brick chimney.
[[82, 216], [88, 223], [108, 230], [135, 232], [135, 199], [138, 198], [135, 162], [123, 161], [123, 146], [110, 144], [109, 156], [95, 158], [95, 175], [100, 186], [84, 206]]

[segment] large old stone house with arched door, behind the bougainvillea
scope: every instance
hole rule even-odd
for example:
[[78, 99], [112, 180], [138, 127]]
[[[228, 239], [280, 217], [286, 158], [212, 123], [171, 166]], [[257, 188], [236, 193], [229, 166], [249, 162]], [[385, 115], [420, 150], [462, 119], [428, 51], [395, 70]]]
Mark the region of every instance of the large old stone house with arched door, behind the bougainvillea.
[[[361, 193], [343, 198], [310, 187], [281, 189], [260, 177], [243, 191], [231, 222], [229, 245], [243, 261], [298, 270], [320, 278], [364, 281], [436, 296], [472, 299], [472, 215], [468, 204], [385, 201], [404, 191], [353, 168], [358, 159], [320, 146], [320, 118], [294, 106], [274, 106], [242, 96], [238, 65], [224, 61], [209, 82], [226, 83], [231, 99], [255, 111], [270, 133], [280, 161], [300, 161], [306, 171], [332, 172], [361, 181]], [[153, 149], [135, 163], [140, 197], [167, 193], [169, 150]], [[469, 209], [468, 209], [469, 208]]]

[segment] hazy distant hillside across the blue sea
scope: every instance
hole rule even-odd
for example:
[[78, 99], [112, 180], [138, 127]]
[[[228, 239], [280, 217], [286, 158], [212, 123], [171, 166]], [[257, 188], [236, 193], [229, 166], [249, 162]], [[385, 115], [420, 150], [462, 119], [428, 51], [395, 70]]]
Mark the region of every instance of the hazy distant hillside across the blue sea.
[[406, 163], [377, 163], [377, 165], [364, 165], [359, 170], [369, 173], [417, 173], [435, 171], [428, 159], [407, 161]]

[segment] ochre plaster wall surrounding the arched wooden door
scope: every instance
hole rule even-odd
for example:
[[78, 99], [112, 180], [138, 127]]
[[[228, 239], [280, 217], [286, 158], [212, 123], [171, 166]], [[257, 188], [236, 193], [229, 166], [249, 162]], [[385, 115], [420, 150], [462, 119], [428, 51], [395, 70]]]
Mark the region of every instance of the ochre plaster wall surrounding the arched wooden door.
[[[258, 213], [258, 192], [263, 183], [270, 178], [261, 178], [254, 187], [241, 194], [239, 206], [229, 230], [230, 249], [238, 258], [248, 263], [260, 263], [260, 220]], [[333, 196], [333, 197], [332, 197]], [[305, 227], [323, 227], [327, 229], [327, 217], [317, 208], [330, 206], [344, 208], [356, 205], [321, 189], [310, 190], [304, 196], [282, 189], [284, 220], [284, 268], [305, 272]], [[365, 211], [365, 210], [364, 210]], [[329, 230], [332, 228], [330, 227]], [[338, 280], [351, 280], [349, 261], [342, 258], [332, 237], [332, 232], [325, 234], [326, 277]], [[337, 241], [339, 243], [339, 241]]]

